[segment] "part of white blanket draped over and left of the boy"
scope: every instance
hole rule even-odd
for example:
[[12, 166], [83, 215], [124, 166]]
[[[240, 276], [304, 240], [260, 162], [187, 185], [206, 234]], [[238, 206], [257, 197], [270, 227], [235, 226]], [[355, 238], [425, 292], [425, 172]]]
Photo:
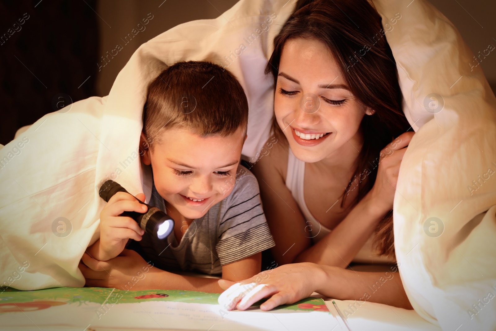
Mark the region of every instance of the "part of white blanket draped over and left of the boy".
[[0, 289], [84, 285], [77, 266], [99, 238], [105, 180], [149, 201], [152, 178], [138, 154], [142, 112], [148, 84], [167, 66], [208, 60], [236, 75], [250, 110], [243, 155], [256, 157], [273, 111], [264, 66], [292, 10], [282, 0], [242, 0], [216, 19], [178, 25], [136, 50], [108, 96], [47, 114], [1, 148]]

